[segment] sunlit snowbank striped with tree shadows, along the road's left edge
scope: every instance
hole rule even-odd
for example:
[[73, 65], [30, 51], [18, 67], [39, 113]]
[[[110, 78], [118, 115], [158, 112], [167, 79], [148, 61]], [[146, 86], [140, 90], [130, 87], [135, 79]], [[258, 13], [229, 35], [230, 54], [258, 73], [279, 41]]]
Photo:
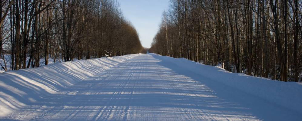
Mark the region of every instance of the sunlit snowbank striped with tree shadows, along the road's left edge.
[[68, 94], [61, 91], [82, 80], [93, 80], [94, 74], [102, 73], [125, 60], [140, 54], [104, 57], [56, 63], [32, 69], [8, 71], [0, 74], [0, 117], [13, 110], [45, 100], [52, 94]]

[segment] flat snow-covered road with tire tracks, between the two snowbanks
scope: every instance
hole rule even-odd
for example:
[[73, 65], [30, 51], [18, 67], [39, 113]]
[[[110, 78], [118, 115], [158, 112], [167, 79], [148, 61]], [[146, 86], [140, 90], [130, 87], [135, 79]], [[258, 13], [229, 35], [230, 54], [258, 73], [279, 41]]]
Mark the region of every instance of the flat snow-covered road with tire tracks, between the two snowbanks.
[[[5, 91], [5, 85], [13, 84], [0, 78], [0, 96], [13, 95], [11, 100], [22, 97], [18, 102], [24, 105], [15, 104], [16, 108], [0, 120], [302, 120], [301, 110], [213, 80], [209, 77], [219, 75], [204, 76], [193, 67], [171, 62], [173, 59], [140, 54], [107, 70], [96, 71], [87, 78], [76, 78], [76, 83], [64, 88], [45, 84], [64, 93], [30, 97]], [[18, 87], [18, 90], [22, 89]], [[4, 105], [4, 99], [0, 98], [0, 104]]]

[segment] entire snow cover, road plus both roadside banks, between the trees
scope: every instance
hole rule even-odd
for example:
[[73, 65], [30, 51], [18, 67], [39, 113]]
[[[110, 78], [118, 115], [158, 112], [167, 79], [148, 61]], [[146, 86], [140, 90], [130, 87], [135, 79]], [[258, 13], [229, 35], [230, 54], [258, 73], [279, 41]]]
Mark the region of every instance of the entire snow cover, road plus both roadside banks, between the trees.
[[0, 120], [302, 120], [302, 85], [130, 54], [0, 74]]

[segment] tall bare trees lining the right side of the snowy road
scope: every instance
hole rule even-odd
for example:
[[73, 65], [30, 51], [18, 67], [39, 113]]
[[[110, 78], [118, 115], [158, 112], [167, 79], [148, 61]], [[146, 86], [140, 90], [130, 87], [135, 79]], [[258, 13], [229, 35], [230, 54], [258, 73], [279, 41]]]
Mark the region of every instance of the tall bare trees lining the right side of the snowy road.
[[300, 0], [171, 0], [150, 51], [273, 80], [301, 78]]

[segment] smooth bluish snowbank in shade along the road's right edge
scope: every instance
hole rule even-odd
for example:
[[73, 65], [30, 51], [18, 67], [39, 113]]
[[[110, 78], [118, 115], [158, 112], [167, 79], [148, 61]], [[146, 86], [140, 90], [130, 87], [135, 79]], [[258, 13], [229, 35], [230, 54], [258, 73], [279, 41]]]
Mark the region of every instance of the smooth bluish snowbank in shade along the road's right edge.
[[[160, 56], [156, 55], [155, 56]], [[161, 56], [161, 60], [169, 61], [186, 68], [192, 73], [224, 83], [227, 86], [237, 88], [246, 93], [258, 96], [271, 103], [275, 103], [287, 109], [300, 112], [302, 109], [302, 84], [296, 82], [283, 82], [266, 78], [248, 76], [243, 73], [231, 73], [219, 67], [200, 64], [185, 58], [173, 58]]]

